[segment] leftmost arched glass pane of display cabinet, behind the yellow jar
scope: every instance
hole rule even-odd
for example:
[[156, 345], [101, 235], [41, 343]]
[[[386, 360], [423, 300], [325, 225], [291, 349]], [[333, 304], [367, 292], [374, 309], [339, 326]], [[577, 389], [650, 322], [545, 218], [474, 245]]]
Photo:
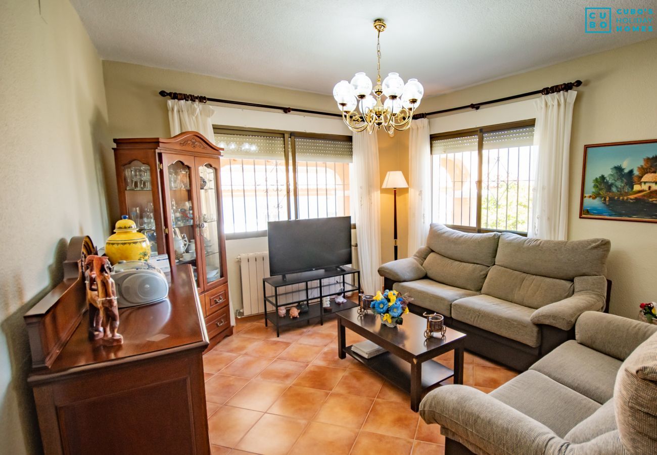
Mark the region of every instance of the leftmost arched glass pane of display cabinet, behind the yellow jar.
[[150, 242], [150, 254], [158, 254], [156, 212], [153, 206], [153, 180], [150, 166], [133, 160], [123, 166], [125, 204], [128, 218]]

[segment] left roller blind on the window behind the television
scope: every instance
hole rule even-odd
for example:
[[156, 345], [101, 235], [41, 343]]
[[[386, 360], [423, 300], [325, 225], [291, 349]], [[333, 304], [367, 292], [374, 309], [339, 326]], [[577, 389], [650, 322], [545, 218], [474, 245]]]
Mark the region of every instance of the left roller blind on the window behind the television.
[[223, 149], [223, 155], [247, 160], [284, 160], [283, 135], [215, 133], [215, 144]]

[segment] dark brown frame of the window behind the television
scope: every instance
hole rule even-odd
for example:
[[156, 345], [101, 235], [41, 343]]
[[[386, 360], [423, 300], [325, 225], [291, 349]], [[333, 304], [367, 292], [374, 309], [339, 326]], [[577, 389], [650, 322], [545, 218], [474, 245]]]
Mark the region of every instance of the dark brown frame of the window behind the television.
[[[254, 134], [265, 135], [270, 137], [283, 137], [284, 161], [285, 161], [285, 193], [287, 201], [287, 219], [299, 220], [299, 193], [297, 185], [296, 172], [296, 142], [294, 138], [307, 139], [327, 139], [333, 141], [349, 141], [353, 143], [353, 136], [342, 134], [325, 134], [325, 133], [306, 133], [285, 130], [269, 130], [265, 128], [248, 128], [243, 126], [221, 126], [213, 125], [212, 130], [215, 134]], [[290, 172], [291, 170], [291, 172]], [[290, 176], [290, 174], [292, 174]], [[223, 195], [222, 195], [223, 197]], [[292, 217], [292, 204], [294, 204], [294, 217]], [[351, 224], [351, 229], [355, 229], [355, 224]], [[267, 230], [263, 231], [246, 231], [227, 233], [227, 240], [252, 239], [256, 237], [267, 237]]]

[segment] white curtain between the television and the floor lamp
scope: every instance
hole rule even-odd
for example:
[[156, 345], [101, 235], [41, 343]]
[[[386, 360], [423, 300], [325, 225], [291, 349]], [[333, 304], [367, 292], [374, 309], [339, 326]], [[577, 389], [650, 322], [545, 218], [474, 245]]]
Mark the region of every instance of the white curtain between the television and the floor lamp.
[[378, 170], [376, 132], [353, 133], [353, 214], [358, 242], [358, 260], [363, 291], [374, 294], [382, 287], [381, 265], [381, 187]]

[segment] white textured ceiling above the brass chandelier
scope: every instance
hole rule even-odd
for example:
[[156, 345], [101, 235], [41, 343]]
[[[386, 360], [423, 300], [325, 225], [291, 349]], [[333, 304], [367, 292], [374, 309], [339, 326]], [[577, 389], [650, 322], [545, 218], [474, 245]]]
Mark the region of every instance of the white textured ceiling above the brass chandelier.
[[[591, 0], [72, 3], [102, 59], [318, 93], [357, 71], [376, 77], [377, 17], [388, 23], [382, 74], [419, 79], [425, 96], [655, 37], [585, 34]], [[623, 5], [636, 2], [604, 2]]]

